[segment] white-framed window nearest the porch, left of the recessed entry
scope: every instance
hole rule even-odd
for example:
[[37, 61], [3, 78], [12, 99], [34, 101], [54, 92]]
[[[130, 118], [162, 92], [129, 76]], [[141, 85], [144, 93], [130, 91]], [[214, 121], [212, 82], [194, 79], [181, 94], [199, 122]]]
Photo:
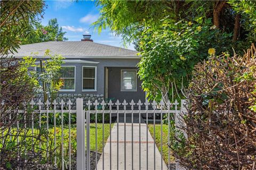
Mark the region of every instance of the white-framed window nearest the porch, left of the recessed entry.
[[97, 67], [83, 66], [83, 91], [96, 91]]

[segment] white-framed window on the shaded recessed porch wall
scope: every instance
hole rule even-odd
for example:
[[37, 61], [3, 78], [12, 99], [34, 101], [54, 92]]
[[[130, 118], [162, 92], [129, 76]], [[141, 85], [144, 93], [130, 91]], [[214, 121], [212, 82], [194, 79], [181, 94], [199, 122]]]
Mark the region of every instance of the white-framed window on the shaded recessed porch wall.
[[137, 70], [121, 70], [121, 91], [137, 91]]

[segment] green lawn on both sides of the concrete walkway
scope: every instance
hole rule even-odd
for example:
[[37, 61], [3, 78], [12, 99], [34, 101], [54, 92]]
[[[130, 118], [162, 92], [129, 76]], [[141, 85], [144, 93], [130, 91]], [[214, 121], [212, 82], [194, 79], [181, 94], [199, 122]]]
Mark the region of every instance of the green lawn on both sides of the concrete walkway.
[[[111, 124], [111, 128], [114, 126], [114, 124]], [[153, 124], [149, 124], [148, 125], [148, 129], [149, 132], [151, 134], [151, 136], [154, 138], [154, 125]], [[69, 127], [68, 125], [65, 125], [63, 127], [64, 130], [64, 150], [65, 150], [65, 159], [67, 159], [68, 161], [68, 145], [69, 145]], [[156, 124], [155, 125], [155, 142], [156, 142], [156, 146], [159, 150], [159, 152], [161, 152], [161, 125]], [[29, 130], [29, 133], [31, 134], [31, 129]], [[50, 138], [54, 139], [54, 128], [51, 126], [49, 128], [49, 132], [50, 132]], [[95, 123], [91, 123], [90, 124], [90, 150], [95, 151], [95, 145], [96, 145], [96, 127], [95, 127]], [[110, 133], [110, 127], [109, 124], [105, 123], [104, 124], [104, 137], [102, 135], [103, 132], [103, 128], [102, 128], [102, 123], [98, 123], [97, 124], [97, 151], [98, 152], [102, 152], [103, 150], [103, 143], [102, 143], [102, 139], [104, 141], [104, 143], [106, 143], [108, 137], [109, 137], [109, 133]], [[38, 129], [34, 130], [34, 133], [38, 133]], [[86, 133], [86, 129], [85, 129], [85, 133]], [[76, 125], [73, 124], [71, 125], [71, 154], [75, 154], [76, 155]], [[61, 126], [57, 126], [56, 128], [56, 137], [57, 137], [57, 148], [60, 148], [61, 146]], [[86, 135], [85, 135], [86, 137]], [[168, 146], [167, 146], [167, 141], [168, 141], [168, 126], [163, 124], [163, 160], [164, 162], [167, 164], [168, 163]], [[86, 142], [86, 139], [85, 139]], [[43, 145], [46, 145], [45, 143], [42, 143]], [[86, 145], [86, 144], [85, 144]], [[53, 147], [53, 146], [52, 146]], [[57, 152], [60, 152], [60, 149], [57, 150]], [[59, 153], [60, 154], [60, 153]], [[58, 156], [57, 156], [58, 157]], [[173, 157], [171, 157], [171, 160], [174, 160]]]

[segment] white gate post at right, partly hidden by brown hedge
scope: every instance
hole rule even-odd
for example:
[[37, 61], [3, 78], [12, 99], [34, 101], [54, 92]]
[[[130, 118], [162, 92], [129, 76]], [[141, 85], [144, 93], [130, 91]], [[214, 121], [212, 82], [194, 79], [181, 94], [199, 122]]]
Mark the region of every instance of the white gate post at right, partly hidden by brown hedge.
[[[187, 100], [181, 99], [180, 103], [181, 103], [181, 104], [180, 104], [180, 105], [181, 105], [180, 111], [177, 111], [177, 112], [175, 113], [175, 127], [176, 127], [177, 129], [181, 128], [181, 125], [183, 124], [183, 122], [182, 122], [182, 116], [185, 115], [186, 112], [187, 112], [187, 108], [186, 108], [186, 106], [187, 106]], [[176, 109], [175, 109], [175, 110], [176, 110]], [[180, 129], [179, 129], [179, 130], [180, 130]], [[187, 134], [186, 134], [185, 132], [183, 132], [183, 134], [184, 134], [185, 137], [187, 138]], [[176, 169], [176, 170], [185, 170], [185, 168], [183, 168], [182, 166], [180, 166], [179, 161], [180, 161], [179, 159], [176, 159], [175, 169]]]

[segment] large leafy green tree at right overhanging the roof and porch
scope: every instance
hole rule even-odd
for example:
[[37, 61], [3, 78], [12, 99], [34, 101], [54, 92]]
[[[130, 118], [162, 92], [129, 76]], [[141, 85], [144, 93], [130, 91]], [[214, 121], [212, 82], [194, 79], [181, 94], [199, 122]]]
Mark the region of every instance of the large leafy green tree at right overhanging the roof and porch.
[[[256, 4], [248, 2], [251, 6]], [[217, 54], [223, 50], [233, 53], [233, 47], [242, 53], [256, 40], [252, 36], [255, 29], [247, 28], [254, 22], [251, 18], [255, 8], [247, 12], [248, 6], [241, 5], [242, 9], [238, 10], [235, 3], [97, 1], [101, 15], [93, 24], [99, 32], [110, 27], [116, 35], [122, 35], [124, 43], [135, 43], [141, 54], [138, 73], [143, 80], [143, 89], [149, 99], [166, 96], [167, 100], [172, 96], [173, 83], [178, 86], [174, 92], [182, 95], [179, 89], [186, 88], [194, 65], [207, 57], [206, 49], [218, 46], [215, 48], [218, 49]], [[243, 3], [247, 4], [247, 1]], [[180, 57], [186, 59], [183, 65]], [[160, 78], [161, 81], [156, 81]]]

